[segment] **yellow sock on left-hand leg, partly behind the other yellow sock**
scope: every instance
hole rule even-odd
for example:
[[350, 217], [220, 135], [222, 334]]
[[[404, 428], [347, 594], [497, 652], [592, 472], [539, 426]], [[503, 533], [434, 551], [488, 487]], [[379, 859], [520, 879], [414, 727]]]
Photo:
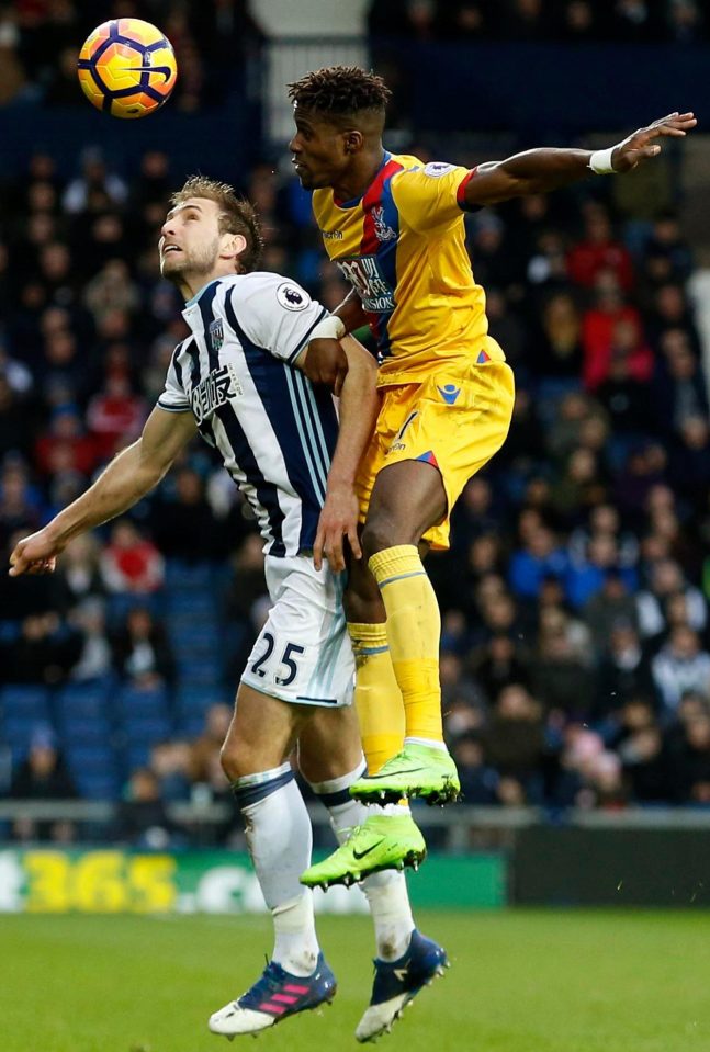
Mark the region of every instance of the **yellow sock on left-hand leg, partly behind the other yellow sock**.
[[349, 624], [356, 659], [356, 708], [368, 772], [376, 774], [385, 760], [402, 750], [404, 708], [392, 668], [387, 626]]

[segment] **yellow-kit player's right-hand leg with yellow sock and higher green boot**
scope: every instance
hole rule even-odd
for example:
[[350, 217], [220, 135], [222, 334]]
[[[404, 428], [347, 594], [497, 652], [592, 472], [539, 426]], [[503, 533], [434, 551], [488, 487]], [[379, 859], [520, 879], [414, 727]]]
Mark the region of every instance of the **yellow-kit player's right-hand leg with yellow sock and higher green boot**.
[[404, 702], [405, 739], [396, 756], [353, 787], [353, 794], [361, 799], [384, 802], [409, 795], [446, 803], [459, 794], [441, 723], [439, 604], [418, 550], [427, 530], [447, 514], [447, 494], [436, 461], [401, 461], [377, 475], [362, 544], [386, 610], [392, 666]]

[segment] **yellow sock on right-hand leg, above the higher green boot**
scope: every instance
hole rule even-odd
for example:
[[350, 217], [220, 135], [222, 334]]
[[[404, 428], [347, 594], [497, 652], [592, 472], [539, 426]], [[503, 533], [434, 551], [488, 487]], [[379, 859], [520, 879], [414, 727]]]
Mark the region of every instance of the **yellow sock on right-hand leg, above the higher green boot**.
[[392, 666], [404, 701], [406, 737], [443, 742], [439, 640], [441, 615], [414, 544], [377, 552], [369, 567], [387, 612]]

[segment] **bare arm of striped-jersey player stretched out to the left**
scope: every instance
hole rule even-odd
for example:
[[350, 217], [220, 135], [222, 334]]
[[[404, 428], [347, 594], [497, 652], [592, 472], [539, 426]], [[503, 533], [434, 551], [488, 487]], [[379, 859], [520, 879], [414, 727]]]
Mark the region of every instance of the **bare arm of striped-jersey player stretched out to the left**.
[[191, 412], [156, 407], [140, 438], [119, 453], [84, 494], [42, 530], [18, 542], [10, 556], [10, 576], [50, 574], [72, 538], [114, 519], [157, 486], [195, 431]]

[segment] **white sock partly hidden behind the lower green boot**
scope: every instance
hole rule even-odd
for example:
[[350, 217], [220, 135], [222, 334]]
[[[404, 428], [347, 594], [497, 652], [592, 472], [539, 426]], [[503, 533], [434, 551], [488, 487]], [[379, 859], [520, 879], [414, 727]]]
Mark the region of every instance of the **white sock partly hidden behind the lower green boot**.
[[[362, 762], [340, 778], [333, 778], [326, 782], [309, 782], [311, 789], [328, 811], [330, 826], [338, 844], [345, 844], [356, 826], [361, 826], [371, 814], [403, 814], [398, 804], [387, 807], [369, 807], [359, 800], [349, 795], [348, 789], [365, 771], [364, 758]], [[406, 812], [409, 813], [409, 808]], [[414, 918], [407, 893], [407, 882], [404, 873], [397, 870], [382, 870], [372, 873], [360, 882], [365, 894], [370, 915], [374, 924], [377, 957], [383, 961], [396, 961], [409, 946], [414, 931]]]

